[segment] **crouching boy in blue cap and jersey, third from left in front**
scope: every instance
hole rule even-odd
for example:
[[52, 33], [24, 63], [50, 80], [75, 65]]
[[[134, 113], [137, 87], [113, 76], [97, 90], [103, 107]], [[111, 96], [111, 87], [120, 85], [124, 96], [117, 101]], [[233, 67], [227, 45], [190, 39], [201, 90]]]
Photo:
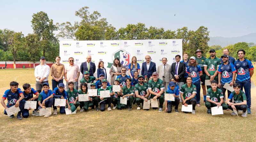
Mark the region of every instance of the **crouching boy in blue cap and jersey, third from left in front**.
[[[52, 90], [50, 90], [49, 83], [45, 82], [43, 84], [43, 91], [38, 96], [38, 109], [42, 108], [52, 108], [53, 103], [53, 94]], [[42, 103], [41, 103], [42, 102]], [[44, 117], [50, 117], [51, 115], [45, 115]]]

